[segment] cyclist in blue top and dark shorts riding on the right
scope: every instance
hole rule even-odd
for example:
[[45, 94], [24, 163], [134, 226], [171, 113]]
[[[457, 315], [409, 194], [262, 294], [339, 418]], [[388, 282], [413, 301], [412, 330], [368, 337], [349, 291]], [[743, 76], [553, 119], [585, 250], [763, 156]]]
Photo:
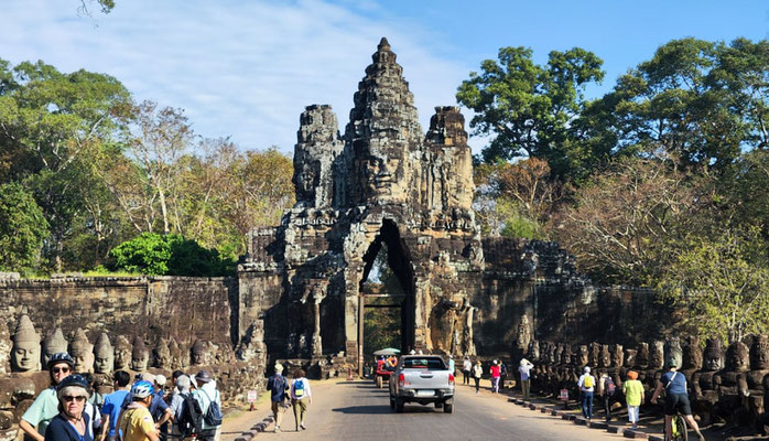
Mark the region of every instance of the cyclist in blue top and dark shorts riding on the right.
[[651, 396], [651, 402], [657, 404], [657, 398], [665, 391], [664, 401], [664, 434], [665, 440], [670, 440], [672, 433], [672, 420], [675, 411], [680, 411], [684, 420], [694, 430], [694, 433], [700, 437], [700, 441], [704, 441], [697, 422], [692, 417], [692, 405], [689, 402], [689, 394], [686, 392], [686, 377], [678, 372], [679, 362], [674, 357], [670, 357], [668, 363], [668, 372], [662, 374], [662, 377], [657, 381], [657, 389]]

